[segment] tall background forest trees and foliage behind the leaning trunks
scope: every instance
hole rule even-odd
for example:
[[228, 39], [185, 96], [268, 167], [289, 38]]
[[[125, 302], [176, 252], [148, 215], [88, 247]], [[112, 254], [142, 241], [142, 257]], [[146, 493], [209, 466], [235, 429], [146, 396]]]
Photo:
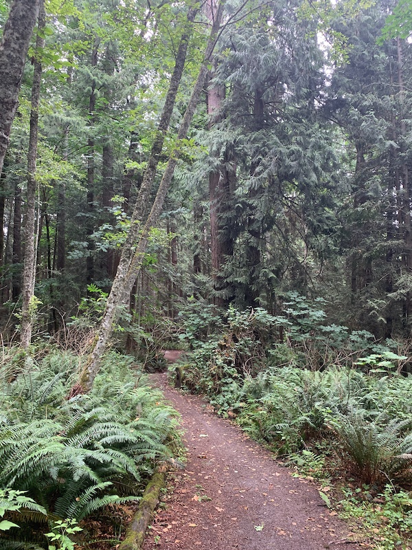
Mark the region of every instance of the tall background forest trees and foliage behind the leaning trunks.
[[[137, 320], [144, 296], [170, 316], [188, 296], [278, 314], [295, 290], [333, 297], [328, 314], [351, 330], [408, 333], [411, 45], [376, 41], [383, 28], [393, 36], [391, 3], [323, 4], [227, 5], [237, 22], [222, 29], [207, 92], [217, 114], [201, 100], [181, 143], [131, 297]], [[30, 314], [34, 333], [60, 338], [88, 288], [111, 287], [189, 16], [183, 4], [133, 1], [49, 1], [46, 11]], [[205, 45], [201, 20], [152, 197]], [[1, 177], [8, 339], [20, 329], [31, 86], [27, 65]]]

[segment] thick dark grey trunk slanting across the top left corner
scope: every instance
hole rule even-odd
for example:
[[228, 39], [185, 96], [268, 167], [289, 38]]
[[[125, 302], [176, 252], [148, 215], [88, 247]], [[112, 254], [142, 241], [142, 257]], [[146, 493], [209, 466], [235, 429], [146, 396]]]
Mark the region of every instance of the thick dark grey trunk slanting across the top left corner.
[[39, 0], [14, 0], [0, 44], [0, 175], [3, 170], [27, 50], [38, 16]]

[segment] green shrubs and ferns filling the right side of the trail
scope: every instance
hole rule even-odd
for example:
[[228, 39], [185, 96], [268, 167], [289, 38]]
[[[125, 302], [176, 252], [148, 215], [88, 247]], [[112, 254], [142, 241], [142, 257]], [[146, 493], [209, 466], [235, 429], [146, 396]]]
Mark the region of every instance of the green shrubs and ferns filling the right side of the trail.
[[[279, 316], [229, 309], [211, 333], [206, 314], [187, 316], [193, 351], [172, 377], [179, 369], [185, 388], [327, 487], [325, 505], [364, 514], [376, 548], [409, 548], [412, 376], [400, 343], [329, 326], [321, 304], [297, 294]], [[335, 500], [334, 488], [351, 483], [352, 494]]]

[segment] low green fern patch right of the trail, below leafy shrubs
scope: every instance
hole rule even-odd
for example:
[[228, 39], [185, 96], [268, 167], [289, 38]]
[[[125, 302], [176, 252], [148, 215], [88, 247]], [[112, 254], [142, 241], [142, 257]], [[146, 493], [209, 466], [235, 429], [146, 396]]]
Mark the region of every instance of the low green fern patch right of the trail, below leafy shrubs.
[[255, 378], [226, 380], [211, 403], [222, 414], [233, 412], [277, 454], [330, 441], [366, 483], [383, 483], [412, 466], [412, 376], [269, 367]]

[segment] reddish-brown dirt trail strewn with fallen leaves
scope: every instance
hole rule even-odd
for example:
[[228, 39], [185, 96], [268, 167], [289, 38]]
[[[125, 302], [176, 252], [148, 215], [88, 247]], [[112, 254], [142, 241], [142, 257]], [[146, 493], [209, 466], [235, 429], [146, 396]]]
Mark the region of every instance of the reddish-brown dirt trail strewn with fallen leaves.
[[207, 412], [200, 397], [170, 388], [165, 374], [151, 380], [181, 414], [188, 456], [185, 470], [172, 474], [174, 492], [144, 550], [361, 548], [316, 487], [290, 476], [239, 428]]

